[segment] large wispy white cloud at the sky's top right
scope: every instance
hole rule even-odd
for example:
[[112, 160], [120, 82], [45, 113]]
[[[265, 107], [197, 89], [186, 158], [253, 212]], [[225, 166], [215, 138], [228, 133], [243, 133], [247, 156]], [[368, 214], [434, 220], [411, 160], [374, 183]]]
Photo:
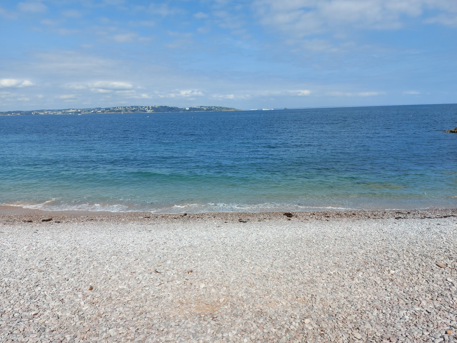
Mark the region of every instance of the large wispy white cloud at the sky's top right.
[[398, 29], [405, 17], [419, 17], [426, 10], [441, 12], [426, 22], [457, 22], [453, 0], [256, 0], [253, 8], [261, 23], [298, 38], [339, 33], [341, 28]]

